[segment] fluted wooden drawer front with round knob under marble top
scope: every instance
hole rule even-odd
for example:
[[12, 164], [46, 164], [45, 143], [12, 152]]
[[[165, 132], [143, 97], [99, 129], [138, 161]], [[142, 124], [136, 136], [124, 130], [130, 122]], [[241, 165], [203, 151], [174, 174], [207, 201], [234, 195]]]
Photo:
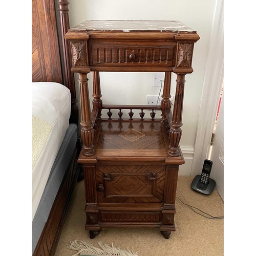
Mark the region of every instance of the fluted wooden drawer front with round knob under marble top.
[[175, 66], [175, 42], [90, 41], [90, 66]]

